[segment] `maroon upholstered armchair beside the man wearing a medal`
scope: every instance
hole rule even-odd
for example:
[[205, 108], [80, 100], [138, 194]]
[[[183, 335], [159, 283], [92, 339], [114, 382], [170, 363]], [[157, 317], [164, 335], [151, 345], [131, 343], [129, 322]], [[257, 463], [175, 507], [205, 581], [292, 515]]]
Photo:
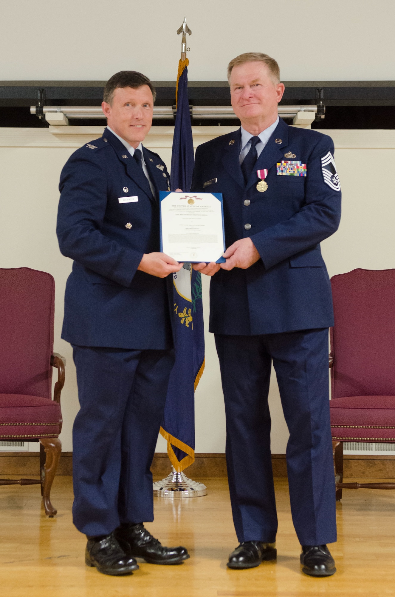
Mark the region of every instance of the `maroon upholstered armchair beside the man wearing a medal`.
[[331, 284], [331, 427], [341, 500], [342, 488], [395, 489], [342, 483], [343, 442], [395, 442], [395, 269], [354, 269]]

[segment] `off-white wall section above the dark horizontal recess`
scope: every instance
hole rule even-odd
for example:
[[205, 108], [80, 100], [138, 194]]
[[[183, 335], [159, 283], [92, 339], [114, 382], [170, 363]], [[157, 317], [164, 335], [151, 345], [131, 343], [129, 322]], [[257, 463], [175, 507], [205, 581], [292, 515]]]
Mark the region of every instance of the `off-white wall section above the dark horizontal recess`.
[[174, 81], [184, 16], [190, 80], [224, 80], [246, 51], [284, 81], [395, 79], [393, 0], [14, 0], [2, 2], [0, 80], [99, 80], [122, 69]]

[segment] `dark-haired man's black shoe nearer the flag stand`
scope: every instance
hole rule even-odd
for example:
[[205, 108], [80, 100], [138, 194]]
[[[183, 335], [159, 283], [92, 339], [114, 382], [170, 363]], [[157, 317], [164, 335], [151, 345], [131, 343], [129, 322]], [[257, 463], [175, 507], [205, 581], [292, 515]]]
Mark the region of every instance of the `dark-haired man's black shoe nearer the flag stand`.
[[181, 564], [189, 558], [185, 547], [163, 547], [142, 522], [122, 524], [115, 536], [129, 557], [143, 558], [149, 564]]

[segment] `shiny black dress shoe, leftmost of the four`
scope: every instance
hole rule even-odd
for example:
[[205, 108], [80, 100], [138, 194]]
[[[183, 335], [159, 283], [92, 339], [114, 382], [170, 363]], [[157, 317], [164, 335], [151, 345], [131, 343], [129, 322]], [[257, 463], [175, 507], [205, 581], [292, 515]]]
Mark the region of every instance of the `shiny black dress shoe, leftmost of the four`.
[[112, 576], [124, 576], [138, 570], [135, 559], [126, 555], [113, 533], [88, 537], [85, 564], [95, 566], [99, 572]]

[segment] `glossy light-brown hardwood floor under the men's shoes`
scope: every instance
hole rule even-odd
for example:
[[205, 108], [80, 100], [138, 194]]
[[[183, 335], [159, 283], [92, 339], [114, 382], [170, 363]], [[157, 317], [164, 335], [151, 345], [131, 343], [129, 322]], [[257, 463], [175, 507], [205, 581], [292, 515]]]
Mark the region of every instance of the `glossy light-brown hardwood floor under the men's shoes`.
[[[203, 480], [203, 479], [199, 479]], [[366, 481], [366, 479], [364, 479]], [[375, 479], [377, 481], [378, 479]], [[338, 542], [331, 544], [337, 574], [300, 572], [300, 546], [292, 527], [286, 479], [276, 479], [279, 514], [277, 562], [236, 571], [226, 568], [237, 544], [227, 480], [204, 479], [208, 496], [155, 498], [147, 528], [163, 544], [185, 545], [180, 566], [140, 564], [129, 577], [109, 577], [84, 564], [85, 537], [73, 527], [72, 481], [55, 478], [45, 518], [37, 485], [0, 487], [0, 587], [4, 597], [371, 597], [395, 595], [395, 491], [344, 490], [338, 508]], [[354, 481], [354, 479], [353, 479]], [[387, 479], [388, 481], [388, 479]]]

